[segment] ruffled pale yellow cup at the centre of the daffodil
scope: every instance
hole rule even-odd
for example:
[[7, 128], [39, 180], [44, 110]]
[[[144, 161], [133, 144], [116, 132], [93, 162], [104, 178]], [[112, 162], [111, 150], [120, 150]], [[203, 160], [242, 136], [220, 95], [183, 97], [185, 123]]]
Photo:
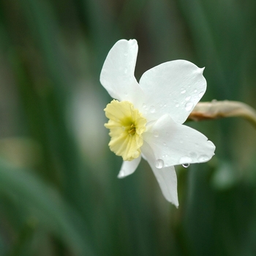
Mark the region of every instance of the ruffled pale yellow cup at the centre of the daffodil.
[[124, 161], [131, 161], [140, 156], [143, 146], [143, 132], [146, 130], [146, 118], [131, 102], [113, 99], [105, 108], [109, 118], [105, 127], [110, 129], [110, 150]]

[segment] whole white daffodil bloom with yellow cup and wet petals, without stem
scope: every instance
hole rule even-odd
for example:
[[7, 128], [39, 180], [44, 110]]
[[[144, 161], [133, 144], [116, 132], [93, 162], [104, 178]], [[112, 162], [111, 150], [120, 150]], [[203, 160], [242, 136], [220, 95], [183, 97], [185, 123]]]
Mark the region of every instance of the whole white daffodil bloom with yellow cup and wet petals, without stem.
[[132, 174], [141, 157], [148, 161], [165, 198], [178, 207], [174, 165], [206, 162], [215, 146], [183, 125], [206, 91], [203, 69], [189, 61], [159, 64], [135, 79], [138, 43], [121, 39], [108, 53], [100, 82], [113, 101], [109, 118], [110, 150], [123, 157], [118, 178]]

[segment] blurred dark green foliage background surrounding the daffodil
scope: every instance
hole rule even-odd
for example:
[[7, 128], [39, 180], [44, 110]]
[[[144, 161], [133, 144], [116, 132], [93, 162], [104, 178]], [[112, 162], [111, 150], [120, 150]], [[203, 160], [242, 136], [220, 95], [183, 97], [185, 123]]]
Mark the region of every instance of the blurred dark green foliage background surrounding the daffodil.
[[145, 161], [116, 178], [99, 83], [108, 50], [138, 40], [136, 78], [206, 67], [203, 101], [256, 108], [255, 0], [0, 1], [0, 255], [256, 255], [256, 131], [188, 122], [217, 146], [176, 167], [180, 206]]

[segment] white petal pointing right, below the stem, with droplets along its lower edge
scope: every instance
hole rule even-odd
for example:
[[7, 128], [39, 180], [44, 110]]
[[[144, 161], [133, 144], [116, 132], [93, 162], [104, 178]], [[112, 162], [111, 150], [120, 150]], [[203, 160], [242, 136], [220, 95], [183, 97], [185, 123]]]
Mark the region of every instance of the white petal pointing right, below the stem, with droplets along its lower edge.
[[214, 156], [214, 143], [197, 130], [176, 123], [169, 115], [148, 127], [143, 139], [152, 148], [155, 161], [162, 161], [164, 167], [207, 162]]

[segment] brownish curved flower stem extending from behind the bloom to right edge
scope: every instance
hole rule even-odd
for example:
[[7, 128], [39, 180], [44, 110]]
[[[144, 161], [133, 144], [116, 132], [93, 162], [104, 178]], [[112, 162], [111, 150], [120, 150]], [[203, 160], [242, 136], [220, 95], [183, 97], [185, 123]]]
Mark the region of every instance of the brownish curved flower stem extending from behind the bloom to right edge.
[[256, 110], [243, 102], [229, 100], [198, 102], [187, 120], [201, 121], [232, 116], [243, 117], [256, 128]]

